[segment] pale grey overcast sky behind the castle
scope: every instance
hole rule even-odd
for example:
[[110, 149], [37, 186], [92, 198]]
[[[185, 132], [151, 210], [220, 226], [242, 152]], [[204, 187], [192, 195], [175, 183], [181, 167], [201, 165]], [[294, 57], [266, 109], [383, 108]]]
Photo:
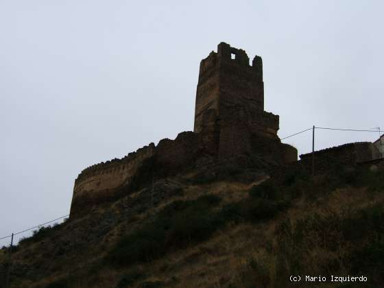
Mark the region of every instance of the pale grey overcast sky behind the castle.
[[[0, 238], [68, 214], [89, 165], [193, 130], [221, 41], [263, 58], [280, 137], [384, 128], [383, 1], [182, 2], [0, 0]], [[317, 130], [315, 148], [377, 138]], [[286, 142], [309, 152], [311, 132]]]

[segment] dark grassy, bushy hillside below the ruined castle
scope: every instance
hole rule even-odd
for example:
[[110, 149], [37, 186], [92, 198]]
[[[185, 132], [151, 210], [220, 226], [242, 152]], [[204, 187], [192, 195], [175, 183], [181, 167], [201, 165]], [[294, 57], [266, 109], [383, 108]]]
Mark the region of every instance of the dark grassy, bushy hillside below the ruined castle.
[[[300, 164], [300, 163], [299, 163]], [[10, 287], [381, 287], [384, 167], [189, 171], [14, 247]], [[8, 249], [0, 250], [5, 283]]]

